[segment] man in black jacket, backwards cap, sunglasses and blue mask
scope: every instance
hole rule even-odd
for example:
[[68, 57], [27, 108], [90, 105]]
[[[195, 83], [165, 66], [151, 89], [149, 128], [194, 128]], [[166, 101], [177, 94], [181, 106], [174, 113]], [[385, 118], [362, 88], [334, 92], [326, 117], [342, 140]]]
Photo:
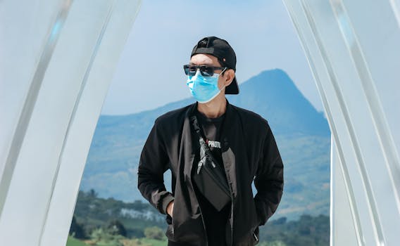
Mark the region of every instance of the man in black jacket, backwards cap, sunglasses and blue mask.
[[[258, 226], [282, 197], [273, 133], [261, 116], [227, 102], [225, 94], [239, 93], [227, 41], [201, 39], [184, 70], [197, 102], [156, 119], [140, 157], [138, 188], [167, 214], [168, 245], [256, 245]], [[163, 181], [168, 169], [171, 191]]]

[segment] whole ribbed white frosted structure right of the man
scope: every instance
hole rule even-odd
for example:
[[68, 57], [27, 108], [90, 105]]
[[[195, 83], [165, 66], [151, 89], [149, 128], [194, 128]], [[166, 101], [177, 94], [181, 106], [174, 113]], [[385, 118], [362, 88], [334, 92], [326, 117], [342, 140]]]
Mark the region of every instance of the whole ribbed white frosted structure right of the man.
[[284, 1], [335, 143], [332, 245], [351, 241], [396, 245], [400, 240], [396, 1]]

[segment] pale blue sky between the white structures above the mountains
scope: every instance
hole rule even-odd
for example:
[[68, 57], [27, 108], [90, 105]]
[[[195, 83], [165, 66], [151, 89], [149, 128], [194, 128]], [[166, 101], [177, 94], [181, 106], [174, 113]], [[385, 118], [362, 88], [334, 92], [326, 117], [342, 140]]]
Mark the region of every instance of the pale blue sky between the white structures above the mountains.
[[282, 1], [144, 0], [101, 114], [127, 115], [190, 97], [182, 66], [189, 63], [193, 46], [208, 36], [225, 39], [234, 48], [239, 84], [280, 68], [323, 111]]

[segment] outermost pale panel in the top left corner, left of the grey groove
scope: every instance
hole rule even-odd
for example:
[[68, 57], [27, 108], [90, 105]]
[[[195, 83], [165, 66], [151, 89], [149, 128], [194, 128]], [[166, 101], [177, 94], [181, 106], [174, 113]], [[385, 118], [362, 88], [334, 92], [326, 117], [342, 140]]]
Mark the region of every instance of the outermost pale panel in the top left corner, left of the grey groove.
[[[0, 174], [13, 171], [11, 165], [4, 172], [7, 158], [12, 158], [8, 152], [12, 144], [20, 145], [23, 138], [40, 86], [35, 78], [44, 72], [37, 65], [41, 56], [47, 55], [44, 50], [51, 50], [46, 45], [52, 44], [49, 33], [62, 4], [61, 0], [32, 0], [25, 6], [20, 1], [0, 2]], [[42, 65], [46, 61], [43, 56]], [[23, 109], [27, 117], [20, 117]], [[4, 188], [0, 186], [0, 208], [5, 199], [1, 195]]]

